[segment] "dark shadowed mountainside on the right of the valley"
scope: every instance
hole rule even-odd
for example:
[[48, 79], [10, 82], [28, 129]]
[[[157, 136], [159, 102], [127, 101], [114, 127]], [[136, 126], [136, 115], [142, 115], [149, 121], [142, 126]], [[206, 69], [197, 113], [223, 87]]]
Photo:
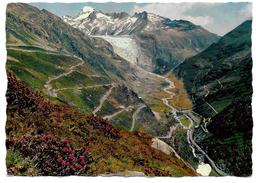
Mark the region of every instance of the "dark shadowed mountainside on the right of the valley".
[[174, 70], [194, 111], [205, 118], [195, 131], [198, 144], [218, 167], [237, 176], [252, 172], [251, 26], [245, 21]]

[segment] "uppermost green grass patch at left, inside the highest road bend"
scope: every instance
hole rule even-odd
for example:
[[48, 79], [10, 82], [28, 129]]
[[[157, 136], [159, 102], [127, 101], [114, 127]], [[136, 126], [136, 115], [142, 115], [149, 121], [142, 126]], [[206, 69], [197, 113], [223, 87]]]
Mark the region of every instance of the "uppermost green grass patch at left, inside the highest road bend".
[[48, 77], [63, 73], [63, 68], [68, 68], [70, 64], [77, 63], [77, 60], [72, 60], [70, 57], [51, 55], [47, 52], [26, 52], [9, 49], [7, 53], [9, 57], [17, 59], [19, 62], [8, 59], [6, 68], [15, 73], [31, 88], [41, 91], [44, 89]]

